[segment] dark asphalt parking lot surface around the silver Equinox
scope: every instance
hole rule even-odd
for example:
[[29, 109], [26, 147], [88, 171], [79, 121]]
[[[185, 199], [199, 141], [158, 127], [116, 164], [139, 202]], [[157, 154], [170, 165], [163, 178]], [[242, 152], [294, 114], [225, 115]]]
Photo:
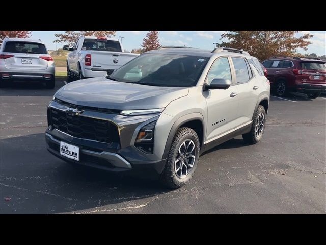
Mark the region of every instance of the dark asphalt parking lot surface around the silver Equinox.
[[232, 139], [199, 159], [191, 182], [157, 182], [75, 168], [45, 146], [39, 84], [0, 89], [0, 213], [326, 213], [326, 97], [271, 97], [263, 140]]

